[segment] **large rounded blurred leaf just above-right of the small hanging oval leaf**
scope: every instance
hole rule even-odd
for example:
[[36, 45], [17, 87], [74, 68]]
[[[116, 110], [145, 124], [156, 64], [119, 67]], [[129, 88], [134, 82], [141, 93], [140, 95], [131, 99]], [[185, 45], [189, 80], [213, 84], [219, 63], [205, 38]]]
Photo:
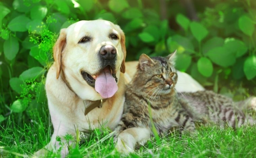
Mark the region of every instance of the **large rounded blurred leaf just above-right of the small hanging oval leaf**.
[[228, 67], [235, 63], [235, 56], [225, 47], [216, 47], [209, 50], [206, 55], [217, 65]]

